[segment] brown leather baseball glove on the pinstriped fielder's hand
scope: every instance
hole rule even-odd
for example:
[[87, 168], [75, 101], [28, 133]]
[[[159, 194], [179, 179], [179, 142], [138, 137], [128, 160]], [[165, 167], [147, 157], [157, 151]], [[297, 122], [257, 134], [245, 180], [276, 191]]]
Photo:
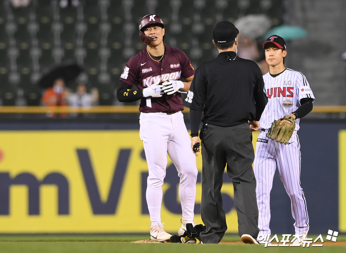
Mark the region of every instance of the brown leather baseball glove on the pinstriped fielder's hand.
[[[280, 122], [284, 119], [291, 121], [291, 124], [284, 122], [280, 125]], [[271, 138], [272, 140], [275, 140], [276, 142], [287, 144], [290, 138], [292, 137], [294, 128], [294, 118], [289, 115], [286, 115], [281, 119], [273, 121], [272, 126], [269, 128], [266, 136], [268, 138]]]

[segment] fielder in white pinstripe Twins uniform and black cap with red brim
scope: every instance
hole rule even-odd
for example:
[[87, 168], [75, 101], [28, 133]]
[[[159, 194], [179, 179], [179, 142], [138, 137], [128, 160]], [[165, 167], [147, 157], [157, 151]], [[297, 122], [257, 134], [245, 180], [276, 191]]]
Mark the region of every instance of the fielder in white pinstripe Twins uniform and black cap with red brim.
[[[301, 234], [304, 237], [309, 230], [309, 216], [304, 192], [300, 186], [301, 158], [297, 131], [299, 118], [312, 110], [315, 97], [306, 77], [301, 72], [284, 67], [287, 51], [283, 38], [273, 35], [263, 43], [263, 48], [270, 71], [263, 76], [268, 104], [260, 119], [261, 132], [258, 135], [254, 160], [259, 210], [258, 227], [260, 228], [257, 238], [271, 234], [269, 228], [270, 191], [276, 167], [286, 193], [291, 199], [295, 234]], [[287, 145], [266, 137], [272, 122], [285, 115], [295, 119], [295, 130]], [[287, 120], [283, 121], [290, 123]], [[295, 240], [293, 243], [299, 243], [299, 241]]]

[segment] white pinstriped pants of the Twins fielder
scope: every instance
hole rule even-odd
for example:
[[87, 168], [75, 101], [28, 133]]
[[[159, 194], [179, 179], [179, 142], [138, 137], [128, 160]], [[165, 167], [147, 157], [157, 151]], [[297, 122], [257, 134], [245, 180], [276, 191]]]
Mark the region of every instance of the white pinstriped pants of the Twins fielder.
[[281, 144], [268, 139], [266, 132], [258, 134], [258, 139], [268, 140], [267, 143], [257, 141], [254, 160], [254, 172], [257, 181], [256, 195], [258, 204], [259, 234], [270, 235], [270, 191], [276, 167], [286, 193], [291, 199], [291, 211], [295, 220], [295, 233], [305, 233], [309, 226], [306, 200], [300, 186], [300, 143], [294, 132], [289, 143]]

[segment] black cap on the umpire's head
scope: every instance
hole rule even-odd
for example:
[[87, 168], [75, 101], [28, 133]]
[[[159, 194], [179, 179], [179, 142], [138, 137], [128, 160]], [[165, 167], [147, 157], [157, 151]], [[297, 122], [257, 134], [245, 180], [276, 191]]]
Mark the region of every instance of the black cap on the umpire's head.
[[239, 33], [239, 30], [233, 23], [225, 20], [217, 23], [213, 29], [213, 39], [215, 43], [225, 44], [233, 41]]

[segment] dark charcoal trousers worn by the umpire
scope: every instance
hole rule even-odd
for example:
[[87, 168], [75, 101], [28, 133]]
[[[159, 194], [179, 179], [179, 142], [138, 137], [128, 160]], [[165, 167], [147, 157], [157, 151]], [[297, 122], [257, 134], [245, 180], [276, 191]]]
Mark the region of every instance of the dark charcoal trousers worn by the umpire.
[[234, 205], [238, 215], [239, 236], [258, 232], [256, 179], [252, 133], [247, 123], [220, 127], [207, 125], [202, 140], [202, 200], [201, 217], [206, 230], [200, 236], [203, 243], [219, 243], [227, 230], [222, 204], [222, 177], [227, 174], [234, 187]]

